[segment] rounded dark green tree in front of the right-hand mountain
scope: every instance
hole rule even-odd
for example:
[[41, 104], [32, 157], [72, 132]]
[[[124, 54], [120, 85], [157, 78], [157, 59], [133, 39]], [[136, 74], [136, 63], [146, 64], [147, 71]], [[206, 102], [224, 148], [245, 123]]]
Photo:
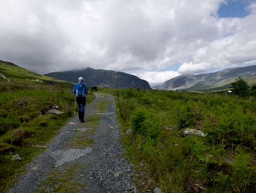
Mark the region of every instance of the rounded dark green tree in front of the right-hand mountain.
[[238, 77], [236, 81], [231, 82], [230, 90], [236, 95], [247, 96], [249, 88], [248, 83], [242, 77]]

